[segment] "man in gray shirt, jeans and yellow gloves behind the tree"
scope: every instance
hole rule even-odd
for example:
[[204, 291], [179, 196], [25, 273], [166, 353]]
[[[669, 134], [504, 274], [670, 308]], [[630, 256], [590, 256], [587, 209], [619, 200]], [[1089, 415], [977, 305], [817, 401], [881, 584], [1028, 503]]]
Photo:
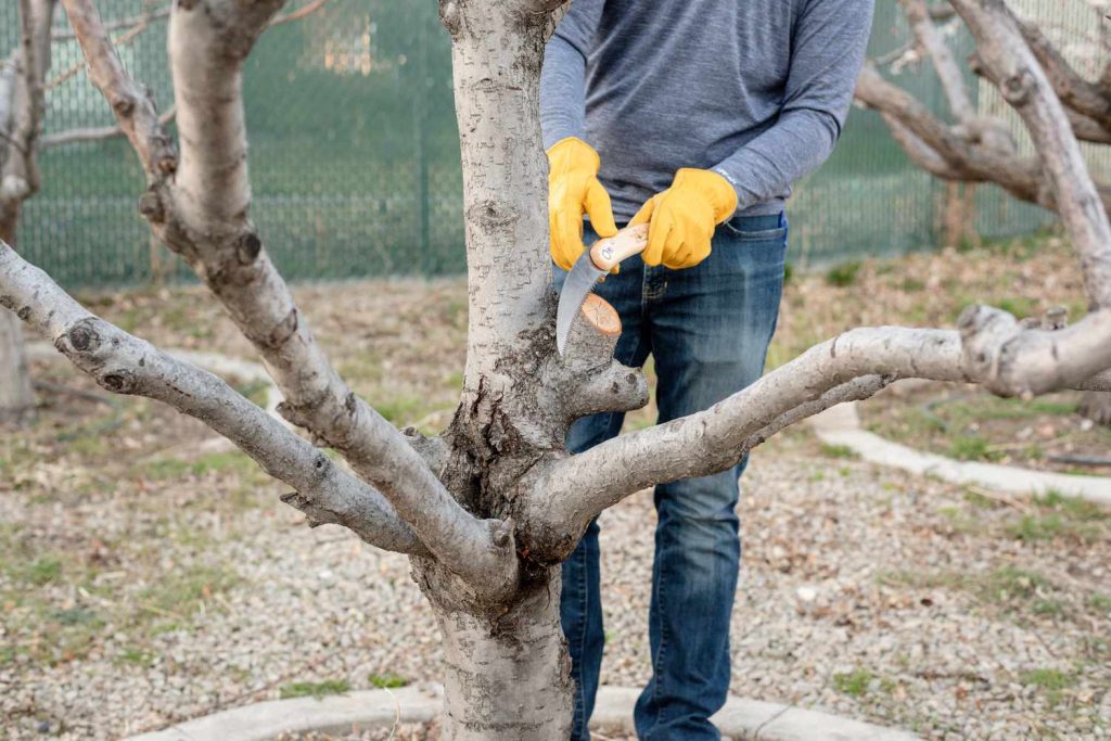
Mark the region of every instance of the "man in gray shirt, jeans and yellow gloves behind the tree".
[[[624, 324], [618, 360], [654, 358], [660, 421], [762, 372], [782, 289], [783, 203], [841, 132], [871, 14], [872, 0], [574, 0], [560, 21], [541, 81], [552, 258], [567, 270], [615, 220], [649, 224], [642, 260], [598, 291]], [[622, 418], [579, 420], [569, 448], [615, 435]], [[729, 691], [743, 468], [655, 490], [642, 739], [720, 738], [709, 718]], [[590, 738], [602, 657], [598, 559], [592, 524], [563, 564], [577, 740]]]

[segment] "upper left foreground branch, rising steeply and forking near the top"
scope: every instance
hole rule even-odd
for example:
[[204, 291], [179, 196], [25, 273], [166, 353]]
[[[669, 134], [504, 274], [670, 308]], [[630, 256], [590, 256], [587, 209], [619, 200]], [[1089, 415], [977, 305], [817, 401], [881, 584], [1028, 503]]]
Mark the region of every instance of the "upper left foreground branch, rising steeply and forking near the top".
[[[356, 397], [328, 362], [248, 219], [250, 186], [242, 62], [280, 0], [179, 3], [169, 51], [181, 134], [177, 167], [149, 152], [167, 141], [153, 103], [134, 94], [89, 0], [63, 0], [93, 81], [140, 154], [149, 188], [140, 210], [184, 257], [266, 360], [290, 421], [338, 450], [376, 485], [444, 565], [480, 593], [517, 582], [510, 525], [479, 520], [447, 491], [404, 438]], [[130, 106], [120, 106], [119, 100]], [[134, 126], [138, 114], [150, 126]], [[177, 162], [174, 162], [177, 164]], [[172, 178], [171, 178], [172, 176]]]

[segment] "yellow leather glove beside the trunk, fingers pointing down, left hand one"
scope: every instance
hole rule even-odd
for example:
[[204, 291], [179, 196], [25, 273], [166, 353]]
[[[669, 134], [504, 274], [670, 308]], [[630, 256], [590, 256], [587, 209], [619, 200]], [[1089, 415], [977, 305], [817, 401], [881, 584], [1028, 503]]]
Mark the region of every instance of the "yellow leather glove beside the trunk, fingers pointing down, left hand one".
[[618, 233], [610, 194], [598, 180], [601, 159], [590, 144], [568, 137], [548, 150], [548, 228], [552, 260], [570, 270], [582, 254], [582, 214], [599, 237]]

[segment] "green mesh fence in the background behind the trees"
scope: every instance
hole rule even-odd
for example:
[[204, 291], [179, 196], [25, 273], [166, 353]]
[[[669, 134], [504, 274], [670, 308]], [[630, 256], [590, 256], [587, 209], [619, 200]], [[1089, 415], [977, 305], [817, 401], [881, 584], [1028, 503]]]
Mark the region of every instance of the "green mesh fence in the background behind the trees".
[[[111, 21], [157, 16], [162, 1], [100, 0], [98, 7]], [[1074, 26], [1090, 24], [1091, 7], [1068, 1], [1078, 8], [1054, 10], [1059, 23], [1068, 26], [1073, 12]], [[17, 42], [17, 6], [0, 8], [0, 52]], [[63, 17], [57, 24], [47, 133], [111, 126], [107, 104], [80, 68], [77, 43], [61, 38]], [[171, 102], [166, 21], [154, 18], [146, 31], [128, 36], [120, 49], [124, 63], [164, 110]], [[870, 54], [905, 40], [895, 0], [878, 0]], [[928, 64], [904, 70], [898, 82], [944, 111]], [[436, 2], [330, 0], [303, 20], [269, 30], [250, 57], [244, 99], [251, 213], [288, 278], [463, 270], [450, 41]], [[19, 234], [31, 261], [70, 288], [141, 283], [163, 269], [186, 276], [152, 244], [137, 212], [143, 180], [124, 140], [49, 147], [40, 163], [42, 190], [27, 203]], [[942, 191], [908, 161], [878, 116], [854, 109], [831, 160], [789, 204], [793, 260], [829, 263], [933, 246]], [[1027, 232], [1050, 218], [993, 187], [979, 189], [977, 199], [984, 236]]]

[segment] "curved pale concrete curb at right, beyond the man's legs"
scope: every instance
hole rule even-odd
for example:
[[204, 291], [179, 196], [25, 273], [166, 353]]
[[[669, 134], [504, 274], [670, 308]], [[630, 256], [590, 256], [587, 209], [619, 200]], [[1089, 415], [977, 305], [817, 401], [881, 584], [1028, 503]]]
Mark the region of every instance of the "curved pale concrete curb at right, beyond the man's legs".
[[958, 461], [923, 453], [891, 442], [861, 427], [857, 402], [838, 404], [810, 419], [822, 442], [844, 445], [869, 463], [901, 469], [918, 475], [933, 475], [950, 483], [979, 484], [1013, 494], [1044, 494], [1057, 491], [1098, 504], [1111, 505], [1111, 478], [1033, 471], [998, 463]]

